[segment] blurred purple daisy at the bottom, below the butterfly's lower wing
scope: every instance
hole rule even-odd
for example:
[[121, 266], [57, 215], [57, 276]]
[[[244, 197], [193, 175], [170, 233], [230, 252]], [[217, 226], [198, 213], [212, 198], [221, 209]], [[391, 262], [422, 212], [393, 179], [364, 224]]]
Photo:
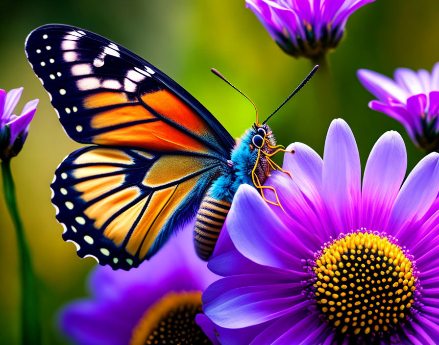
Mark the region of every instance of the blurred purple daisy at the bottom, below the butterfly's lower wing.
[[212, 344], [195, 315], [201, 293], [218, 276], [196, 256], [192, 232], [186, 228], [171, 238], [137, 269], [96, 267], [89, 277], [92, 296], [61, 310], [61, 330], [81, 345]]

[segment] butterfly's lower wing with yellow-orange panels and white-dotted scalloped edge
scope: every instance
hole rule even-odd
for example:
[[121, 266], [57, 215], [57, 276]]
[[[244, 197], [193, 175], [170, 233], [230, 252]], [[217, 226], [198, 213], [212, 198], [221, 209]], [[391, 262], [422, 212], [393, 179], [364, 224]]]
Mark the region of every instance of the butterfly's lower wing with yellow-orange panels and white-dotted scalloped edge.
[[78, 255], [129, 270], [194, 216], [220, 169], [208, 156], [91, 146], [71, 153], [51, 184], [57, 220]]

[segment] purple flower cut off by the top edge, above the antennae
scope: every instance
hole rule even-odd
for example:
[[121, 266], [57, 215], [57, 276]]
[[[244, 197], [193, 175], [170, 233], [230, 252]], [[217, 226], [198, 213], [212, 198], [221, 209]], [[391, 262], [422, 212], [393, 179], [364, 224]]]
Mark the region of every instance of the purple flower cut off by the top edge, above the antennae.
[[349, 16], [374, 0], [245, 0], [274, 41], [315, 59], [340, 43]]

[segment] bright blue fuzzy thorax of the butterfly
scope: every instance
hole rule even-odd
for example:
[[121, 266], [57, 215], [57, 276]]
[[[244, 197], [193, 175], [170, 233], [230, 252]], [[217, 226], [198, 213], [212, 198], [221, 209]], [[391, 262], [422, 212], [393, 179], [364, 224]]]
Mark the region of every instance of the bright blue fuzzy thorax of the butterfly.
[[255, 134], [253, 128], [247, 129], [232, 149], [230, 155], [232, 166], [225, 167], [225, 171], [214, 181], [209, 190], [211, 197], [231, 203], [240, 185], [243, 183], [253, 185], [251, 171], [255, 166], [258, 150], [251, 149], [250, 144]]

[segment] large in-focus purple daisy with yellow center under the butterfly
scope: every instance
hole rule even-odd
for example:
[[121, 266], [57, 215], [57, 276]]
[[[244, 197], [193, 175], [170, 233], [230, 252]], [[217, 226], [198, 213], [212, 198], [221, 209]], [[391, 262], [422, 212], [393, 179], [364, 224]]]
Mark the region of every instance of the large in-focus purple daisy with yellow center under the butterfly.
[[[334, 120], [323, 160], [287, 150], [268, 185], [285, 209], [247, 185], [238, 190], [208, 267], [224, 278], [197, 317], [222, 345], [438, 344], [439, 153], [405, 182], [401, 136], [360, 157]], [[402, 186], [401, 186], [402, 184]]]

